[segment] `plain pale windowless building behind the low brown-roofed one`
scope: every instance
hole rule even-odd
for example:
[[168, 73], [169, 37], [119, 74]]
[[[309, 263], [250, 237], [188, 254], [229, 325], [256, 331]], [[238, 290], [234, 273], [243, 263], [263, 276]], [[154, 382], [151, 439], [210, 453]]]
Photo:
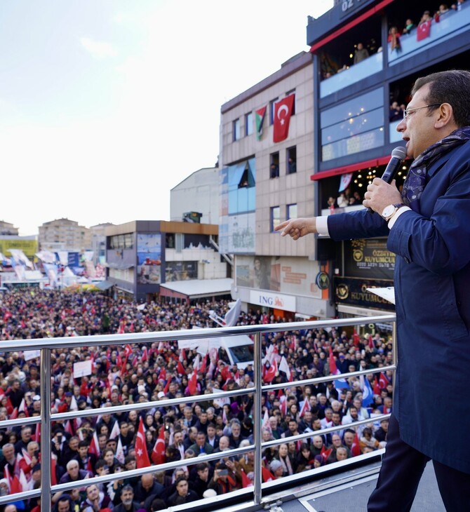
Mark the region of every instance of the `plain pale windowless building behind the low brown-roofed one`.
[[219, 168], [194, 171], [170, 191], [170, 220], [184, 220], [190, 212], [201, 214], [203, 224], [219, 224]]

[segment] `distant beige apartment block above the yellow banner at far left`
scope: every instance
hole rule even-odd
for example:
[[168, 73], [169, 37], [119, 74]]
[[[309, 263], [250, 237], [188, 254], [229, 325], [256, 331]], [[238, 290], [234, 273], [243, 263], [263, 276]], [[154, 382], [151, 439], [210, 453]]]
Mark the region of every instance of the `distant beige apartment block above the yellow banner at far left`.
[[90, 230], [74, 220], [56, 219], [39, 226], [40, 250], [83, 252], [90, 246]]

